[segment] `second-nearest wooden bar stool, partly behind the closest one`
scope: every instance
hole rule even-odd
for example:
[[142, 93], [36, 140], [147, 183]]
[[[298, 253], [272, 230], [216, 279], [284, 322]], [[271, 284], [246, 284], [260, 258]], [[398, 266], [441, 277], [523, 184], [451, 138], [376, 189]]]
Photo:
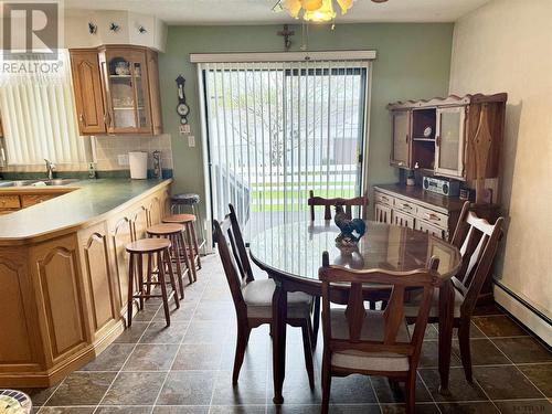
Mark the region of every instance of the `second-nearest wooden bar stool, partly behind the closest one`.
[[[170, 247], [171, 262], [174, 263], [177, 266], [177, 277], [178, 277], [181, 299], [184, 298], [184, 283], [182, 282], [183, 277], [188, 275], [190, 283], [192, 283], [192, 270], [191, 270], [192, 266], [190, 265], [188, 255], [180, 254], [180, 252], [182, 252], [185, 248], [184, 237], [182, 234], [183, 231], [184, 226], [178, 223], [156, 224], [146, 230], [146, 233], [148, 233], [148, 236], [150, 237], [168, 238], [171, 242], [171, 247]], [[148, 261], [148, 269], [150, 268], [150, 266], [152, 266], [152, 264], [150, 263], [150, 261]], [[150, 275], [151, 273], [152, 272], [148, 272], [148, 275]], [[146, 289], [147, 289], [146, 291], [149, 294], [151, 289], [151, 280], [147, 280]]]

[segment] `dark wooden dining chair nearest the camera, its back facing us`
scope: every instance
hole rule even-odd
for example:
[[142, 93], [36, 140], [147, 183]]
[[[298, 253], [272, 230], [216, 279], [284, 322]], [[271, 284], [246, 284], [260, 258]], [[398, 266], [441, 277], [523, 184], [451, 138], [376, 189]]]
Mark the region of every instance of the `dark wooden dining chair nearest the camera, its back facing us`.
[[[328, 252], [323, 253], [318, 273], [322, 282], [322, 413], [329, 410], [331, 376], [350, 374], [405, 382], [406, 413], [414, 413], [416, 369], [434, 287], [439, 284], [438, 262], [432, 257], [427, 268], [412, 272], [351, 270], [330, 266]], [[384, 310], [364, 308], [363, 283], [392, 288]], [[332, 307], [335, 290], [343, 284], [350, 284], [347, 307]], [[404, 298], [413, 288], [421, 289], [422, 295], [411, 336], [404, 317]]]

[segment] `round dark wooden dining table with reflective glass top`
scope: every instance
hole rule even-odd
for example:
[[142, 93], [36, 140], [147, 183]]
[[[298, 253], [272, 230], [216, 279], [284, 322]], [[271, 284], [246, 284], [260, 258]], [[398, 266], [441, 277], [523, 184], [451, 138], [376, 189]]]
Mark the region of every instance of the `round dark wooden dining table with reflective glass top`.
[[[336, 244], [340, 231], [333, 221], [279, 224], [261, 231], [251, 238], [250, 255], [253, 262], [276, 282], [273, 298], [274, 403], [282, 404], [284, 401], [287, 294], [299, 290], [320, 296], [318, 269], [325, 251], [329, 253], [330, 265], [365, 270], [381, 268], [408, 272], [426, 267], [432, 256], [439, 258], [439, 390], [443, 394], [448, 393], [455, 306], [452, 277], [460, 267], [460, 252], [428, 233], [371, 221], [365, 224], [365, 234], [353, 247]], [[371, 290], [369, 280], [363, 287]], [[382, 286], [374, 286], [374, 293], [378, 288], [381, 289]]]

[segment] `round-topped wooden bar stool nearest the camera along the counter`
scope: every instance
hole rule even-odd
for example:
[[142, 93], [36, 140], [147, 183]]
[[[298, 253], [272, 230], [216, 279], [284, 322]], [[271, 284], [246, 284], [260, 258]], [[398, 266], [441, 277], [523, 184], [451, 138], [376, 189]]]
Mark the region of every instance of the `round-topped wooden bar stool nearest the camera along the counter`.
[[[144, 299], [147, 298], [159, 298], [163, 299], [164, 319], [167, 326], [171, 325], [170, 314], [169, 314], [169, 299], [174, 296], [174, 302], [177, 308], [180, 308], [180, 302], [178, 300], [177, 284], [174, 282], [174, 273], [172, 272], [171, 258], [170, 258], [170, 247], [171, 242], [167, 238], [142, 238], [126, 245], [127, 252], [130, 254], [130, 262], [128, 264], [128, 327], [132, 325], [132, 301], [134, 299], [140, 299], [140, 309], [144, 309]], [[151, 263], [153, 255], [157, 257], [158, 269], [159, 269], [159, 282], [161, 287], [161, 295], [151, 295], [151, 293], [144, 293], [144, 256], [148, 256], [148, 264]], [[169, 264], [169, 280], [172, 286], [172, 291], [167, 294], [167, 283], [164, 278], [166, 264]], [[138, 269], [138, 286], [137, 294], [134, 288], [135, 280], [135, 267]], [[148, 266], [147, 279], [151, 280], [151, 266]]]

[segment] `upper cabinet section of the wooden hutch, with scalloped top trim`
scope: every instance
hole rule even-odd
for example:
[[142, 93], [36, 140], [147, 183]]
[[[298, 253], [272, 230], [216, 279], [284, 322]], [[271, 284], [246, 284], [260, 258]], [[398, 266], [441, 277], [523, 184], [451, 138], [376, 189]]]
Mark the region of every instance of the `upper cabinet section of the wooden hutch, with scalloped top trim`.
[[[389, 104], [391, 164], [471, 181], [499, 176], [507, 94]], [[477, 139], [481, 131], [486, 139]]]

